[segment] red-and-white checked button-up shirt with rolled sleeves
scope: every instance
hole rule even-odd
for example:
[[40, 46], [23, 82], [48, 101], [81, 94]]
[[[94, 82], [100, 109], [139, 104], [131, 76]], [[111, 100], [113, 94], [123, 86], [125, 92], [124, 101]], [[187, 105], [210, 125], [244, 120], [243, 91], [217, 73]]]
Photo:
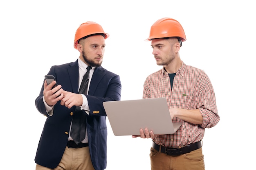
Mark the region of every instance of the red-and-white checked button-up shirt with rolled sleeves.
[[164, 68], [146, 78], [143, 98], [160, 97], [166, 98], [169, 108], [199, 109], [203, 123], [191, 124], [180, 118], [173, 118], [173, 122], [183, 122], [182, 125], [174, 134], [157, 135], [153, 139], [156, 144], [177, 148], [198, 142], [204, 137], [205, 128], [215, 126], [220, 120], [209, 77], [203, 70], [186, 65], [183, 61], [174, 77], [172, 89]]

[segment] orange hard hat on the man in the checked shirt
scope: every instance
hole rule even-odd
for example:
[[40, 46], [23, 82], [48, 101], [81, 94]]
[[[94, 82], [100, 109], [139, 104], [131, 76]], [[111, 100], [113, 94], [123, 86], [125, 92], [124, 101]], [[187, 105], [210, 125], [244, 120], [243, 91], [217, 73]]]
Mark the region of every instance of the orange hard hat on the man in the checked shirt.
[[157, 20], [151, 26], [147, 40], [166, 37], [180, 37], [181, 41], [186, 41], [186, 35], [180, 22], [167, 17]]

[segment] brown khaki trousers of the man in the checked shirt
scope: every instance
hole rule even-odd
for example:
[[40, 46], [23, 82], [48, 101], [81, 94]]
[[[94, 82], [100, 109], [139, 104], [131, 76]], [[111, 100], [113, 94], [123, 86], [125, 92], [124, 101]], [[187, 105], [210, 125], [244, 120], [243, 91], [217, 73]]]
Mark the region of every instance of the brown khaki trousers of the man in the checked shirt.
[[159, 153], [150, 148], [151, 170], [205, 170], [202, 148], [178, 156]]

